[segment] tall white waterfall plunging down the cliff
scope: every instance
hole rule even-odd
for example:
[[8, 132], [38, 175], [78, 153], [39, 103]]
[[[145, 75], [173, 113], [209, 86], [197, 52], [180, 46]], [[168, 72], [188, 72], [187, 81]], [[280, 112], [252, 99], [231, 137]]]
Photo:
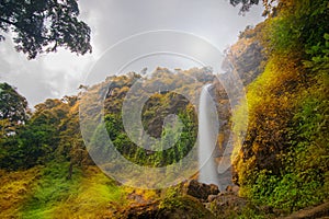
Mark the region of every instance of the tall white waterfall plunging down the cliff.
[[218, 117], [214, 101], [208, 93], [211, 84], [204, 85], [198, 105], [198, 182], [215, 184], [219, 187], [219, 176], [215, 155]]

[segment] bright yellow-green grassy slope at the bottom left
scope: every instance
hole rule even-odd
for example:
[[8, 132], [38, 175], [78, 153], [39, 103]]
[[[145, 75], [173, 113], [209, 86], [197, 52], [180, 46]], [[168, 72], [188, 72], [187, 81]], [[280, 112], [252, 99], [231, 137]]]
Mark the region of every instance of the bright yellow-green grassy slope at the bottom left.
[[68, 165], [52, 163], [44, 168], [20, 218], [98, 218], [127, 204], [124, 188], [95, 166], [83, 172], [76, 168], [67, 180]]

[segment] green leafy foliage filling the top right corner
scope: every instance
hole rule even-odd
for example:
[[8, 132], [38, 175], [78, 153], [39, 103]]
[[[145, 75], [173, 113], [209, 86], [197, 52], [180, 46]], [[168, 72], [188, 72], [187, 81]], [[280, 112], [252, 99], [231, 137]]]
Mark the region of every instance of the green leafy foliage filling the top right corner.
[[[309, 59], [309, 49], [325, 43], [324, 35], [329, 32], [328, 1], [281, 1], [280, 15], [273, 18], [268, 28], [268, 49], [280, 54], [299, 51], [303, 59]], [[316, 26], [316, 28], [315, 28]]]

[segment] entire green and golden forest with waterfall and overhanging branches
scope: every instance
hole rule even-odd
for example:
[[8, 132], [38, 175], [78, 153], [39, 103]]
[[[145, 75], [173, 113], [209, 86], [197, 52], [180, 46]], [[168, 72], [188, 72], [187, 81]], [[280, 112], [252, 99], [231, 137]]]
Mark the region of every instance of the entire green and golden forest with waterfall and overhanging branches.
[[[109, 72], [33, 107], [1, 81], [0, 218], [329, 218], [329, 1], [229, 3], [264, 19], [224, 51], [223, 76]], [[75, 0], [0, 12], [29, 61], [92, 50]]]

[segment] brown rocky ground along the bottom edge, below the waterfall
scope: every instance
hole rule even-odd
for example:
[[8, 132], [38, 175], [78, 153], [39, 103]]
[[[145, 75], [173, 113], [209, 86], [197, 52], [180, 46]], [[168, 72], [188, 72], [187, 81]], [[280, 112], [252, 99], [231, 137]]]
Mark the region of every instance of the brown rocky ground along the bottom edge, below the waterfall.
[[239, 187], [236, 185], [229, 185], [226, 191], [218, 193], [216, 185], [206, 185], [191, 180], [179, 185], [174, 191], [177, 191], [175, 195], [164, 195], [156, 200], [145, 200], [140, 195], [131, 193], [128, 197], [135, 200], [135, 204], [124, 209], [117, 206], [113, 215], [107, 218], [226, 219], [241, 216], [248, 218], [262, 216], [269, 219], [329, 218], [329, 203], [287, 216], [286, 211], [256, 205], [238, 196]]

